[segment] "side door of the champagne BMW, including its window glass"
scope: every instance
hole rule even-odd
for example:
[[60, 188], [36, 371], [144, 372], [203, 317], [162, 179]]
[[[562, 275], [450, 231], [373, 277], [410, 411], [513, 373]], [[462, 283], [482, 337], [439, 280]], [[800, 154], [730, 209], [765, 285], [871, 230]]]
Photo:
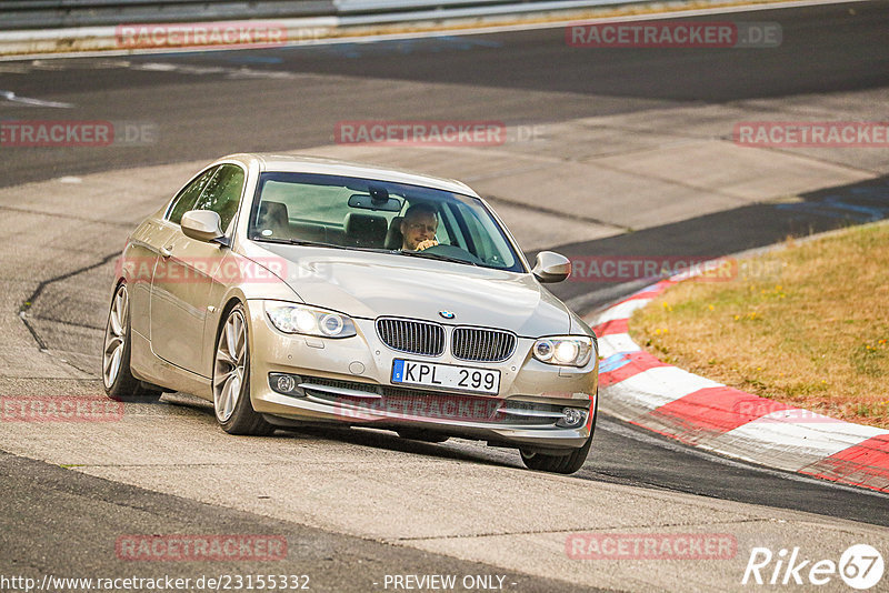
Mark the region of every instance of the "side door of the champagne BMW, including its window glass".
[[178, 228], [189, 210], [219, 214], [223, 231], [232, 225], [244, 185], [244, 171], [237, 164], [221, 164], [200, 189], [189, 208], [173, 208], [170, 223], [177, 225], [160, 254], [151, 285], [151, 345], [154, 353], [187, 371], [208, 376], [203, 326], [217, 271], [228, 248], [186, 237]]

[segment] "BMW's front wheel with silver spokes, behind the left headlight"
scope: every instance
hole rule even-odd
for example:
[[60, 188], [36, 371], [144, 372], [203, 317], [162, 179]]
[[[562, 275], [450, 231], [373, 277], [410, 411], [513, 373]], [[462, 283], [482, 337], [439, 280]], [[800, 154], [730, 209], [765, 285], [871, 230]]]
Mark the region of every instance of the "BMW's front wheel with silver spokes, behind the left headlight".
[[250, 403], [250, 350], [243, 305], [229, 311], [213, 358], [213, 411], [229, 434], [264, 435], [274, 426]]

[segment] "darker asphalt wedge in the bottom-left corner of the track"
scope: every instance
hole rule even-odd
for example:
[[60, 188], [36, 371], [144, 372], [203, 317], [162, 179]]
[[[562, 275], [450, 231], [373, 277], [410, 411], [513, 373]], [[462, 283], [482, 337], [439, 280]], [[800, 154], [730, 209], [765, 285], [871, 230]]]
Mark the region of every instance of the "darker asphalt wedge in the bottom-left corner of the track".
[[[6, 492], [14, 493], [0, 502], [2, 573], [28, 575], [38, 582], [42, 574], [150, 579], [166, 572], [193, 582], [202, 575], [286, 571], [288, 575], [309, 575], [312, 591], [369, 591], [374, 589], [373, 581], [381, 582], [386, 574], [508, 574], [508, 586], [515, 591], [577, 591], [577, 586], [561, 581], [507, 573], [481, 563], [220, 509], [3, 452], [0, 480]], [[121, 569], [108, 544], [121, 533], [274, 533], [287, 539], [288, 556], [299, 560], [288, 562], [286, 567], [242, 560], [212, 567], [184, 562], [160, 569], [152, 562], [129, 563]], [[32, 573], [33, 569], [39, 572]]]

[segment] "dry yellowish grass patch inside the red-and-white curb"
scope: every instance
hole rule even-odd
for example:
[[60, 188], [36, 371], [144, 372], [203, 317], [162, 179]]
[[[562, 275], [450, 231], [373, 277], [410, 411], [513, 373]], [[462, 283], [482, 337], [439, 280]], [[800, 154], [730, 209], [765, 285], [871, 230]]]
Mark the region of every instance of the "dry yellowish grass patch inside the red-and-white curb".
[[652, 353], [728, 385], [889, 428], [889, 224], [682, 282], [630, 320]]

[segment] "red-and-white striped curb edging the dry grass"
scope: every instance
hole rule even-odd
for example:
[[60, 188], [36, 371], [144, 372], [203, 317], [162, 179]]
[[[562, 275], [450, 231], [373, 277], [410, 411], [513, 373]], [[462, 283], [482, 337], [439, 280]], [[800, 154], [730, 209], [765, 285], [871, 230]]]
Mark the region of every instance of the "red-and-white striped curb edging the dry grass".
[[683, 443], [770, 468], [889, 492], [889, 431], [816, 414], [659, 361], [627, 332], [662, 280], [585, 321], [599, 336], [600, 408]]

